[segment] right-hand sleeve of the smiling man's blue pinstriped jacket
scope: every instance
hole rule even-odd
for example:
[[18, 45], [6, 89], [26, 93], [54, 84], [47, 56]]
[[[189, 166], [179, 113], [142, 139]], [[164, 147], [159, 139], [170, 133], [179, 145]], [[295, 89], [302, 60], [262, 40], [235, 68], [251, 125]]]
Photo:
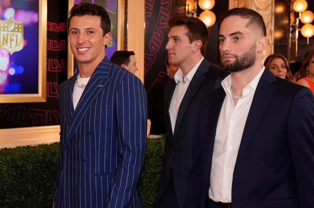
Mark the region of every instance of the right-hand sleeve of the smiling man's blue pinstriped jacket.
[[107, 208], [124, 208], [135, 191], [143, 167], [147, 136], [146, 91], [138, 77], [123, 79], [116, 94], [119, 164], [111, 181]]

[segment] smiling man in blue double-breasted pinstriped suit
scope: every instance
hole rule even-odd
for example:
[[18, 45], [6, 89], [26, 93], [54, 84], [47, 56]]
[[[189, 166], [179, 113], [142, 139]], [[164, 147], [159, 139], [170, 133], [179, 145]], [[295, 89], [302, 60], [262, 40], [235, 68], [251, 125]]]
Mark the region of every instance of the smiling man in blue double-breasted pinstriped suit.
[[56, 208], [142, 207], [137, 182], [147, 134], [146, 92], [138, 77], [106, 57], [109, 31], [101, 6], [71, 9], [68, 33], [79, 70], [58, 92]]

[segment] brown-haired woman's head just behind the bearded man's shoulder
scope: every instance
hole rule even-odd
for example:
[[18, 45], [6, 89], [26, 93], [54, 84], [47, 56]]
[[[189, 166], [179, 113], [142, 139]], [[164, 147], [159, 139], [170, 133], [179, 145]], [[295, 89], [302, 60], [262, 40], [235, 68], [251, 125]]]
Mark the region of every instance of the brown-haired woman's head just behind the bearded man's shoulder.
[[294, 82], [288, 60], [284, 55], [280, 53], [269, 55], [265, 59], [264, 66], [275, 76]]

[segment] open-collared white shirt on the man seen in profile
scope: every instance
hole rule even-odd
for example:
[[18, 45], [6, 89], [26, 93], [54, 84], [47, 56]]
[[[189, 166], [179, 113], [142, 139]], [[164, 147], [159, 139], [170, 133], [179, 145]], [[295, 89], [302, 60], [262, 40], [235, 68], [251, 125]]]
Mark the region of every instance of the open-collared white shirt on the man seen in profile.
[[204, 59], [204, 56], [201, 58], [200, 61], [192, 68], [192, 70], [187, 74], [186, 77], [184, 77], [183, 83], [183, 74], [181, 71], [181, 68], [176, 72], [174, 79], [176, 81], [176, 88], [173, 92], [171, 103], [169, 107], [169, 114], [170, 114], [170, 121], [171, 121], [171, 127], [172, 127], [172, 133], [175, 131], [175, 125], [176, 125], [176, 117], [178, 115], [178, 110], [180, 107], [180, 104], [182, 102], [182, 99], [187, 92], [187, 88], [189, 87], [189, 84], [198, 69], [199, 65], [202, 63]]

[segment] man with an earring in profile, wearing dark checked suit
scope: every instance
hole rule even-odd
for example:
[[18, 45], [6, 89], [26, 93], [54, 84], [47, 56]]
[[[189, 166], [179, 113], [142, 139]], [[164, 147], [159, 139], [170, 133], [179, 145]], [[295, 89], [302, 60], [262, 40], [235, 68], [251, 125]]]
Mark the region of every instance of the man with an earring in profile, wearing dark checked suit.
[[208, 30], [201, 20], [175, 14], [168, 27], [169, 63], [180, 69], [165, 87], [165, 156], [155, 208], [183, 207], [190, 194], [187, 180], [199, 102], [229, 74], [203, 57]]

